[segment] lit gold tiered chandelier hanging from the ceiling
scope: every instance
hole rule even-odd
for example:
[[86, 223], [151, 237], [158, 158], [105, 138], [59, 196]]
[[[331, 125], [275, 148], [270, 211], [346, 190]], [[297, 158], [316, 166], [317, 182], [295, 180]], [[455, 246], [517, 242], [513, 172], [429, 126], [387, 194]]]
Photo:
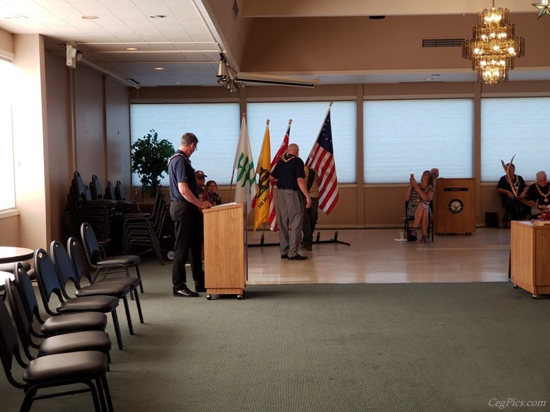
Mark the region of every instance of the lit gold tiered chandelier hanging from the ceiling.
[[479, 24], [470, 40], [462, 43], [462, 57], [472, 60], [477, 80], [487, 84], [505, 82], [508, 71], [514, 69], [514, 58], [525, 52], [525, 39], [515, 34], [507, 8], [493, 7], [479, 13]]

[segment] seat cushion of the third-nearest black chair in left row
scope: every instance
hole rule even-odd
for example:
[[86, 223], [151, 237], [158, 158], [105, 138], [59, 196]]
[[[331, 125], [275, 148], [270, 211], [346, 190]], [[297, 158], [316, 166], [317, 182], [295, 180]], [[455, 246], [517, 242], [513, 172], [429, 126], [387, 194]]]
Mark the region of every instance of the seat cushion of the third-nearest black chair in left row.
[[78, 332], [80, 330], [105, 330], [107, 315], [101, 312], [67, 313], [47, 318], [41, 325], [41, 332], [48, 336]]

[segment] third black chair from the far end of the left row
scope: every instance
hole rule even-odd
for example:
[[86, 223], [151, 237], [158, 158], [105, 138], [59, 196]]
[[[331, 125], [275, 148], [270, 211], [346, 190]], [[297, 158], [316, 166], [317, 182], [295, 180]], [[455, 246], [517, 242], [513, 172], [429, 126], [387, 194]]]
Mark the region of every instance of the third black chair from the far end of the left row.
[[[57, 268], [57, 273], [59, 275], [59, 284], [61, 285], [61, 293], [65, 299], [72, 299], [73, 297], [87, 297], [87, 296], [96, 296], [96, 295], [109, 295], [114, 296], [117, 299], [122, 299], [124, 302], [124, 310], [126, 312], [126, 319], [128, 321], [128, 329], [130, 334], [133, 334], [133, 325], [132, 317], [130, 314], [130, 307], [128, 304], [128, 295], [132, 292], [132, 286], [134, 284], [134, 279], [131, 277], [118, 277], [111, 278], [109, 282], [101, 283], [101, 279], [98, 280], [95, 284], [89, 284], [87, 286], [80, 285], [80, 277], [78, 277], [74, 264], [69, 259], [69, 253], [67, 249], [58, 242], [54, 240], [50, 244], [50, 257], [54, 262], [54, 265]], [[139, 279], [138, 279], [139, 280]], [[72, 283], [72, 286], [76, 288], [74, 296], [70, 296], [67, 292], [67, 284]], [[140, 297], [135, 291], [137, 296], [137, 305], [140, 306]], [[141, 308], [140, 308], [141, 312]]]

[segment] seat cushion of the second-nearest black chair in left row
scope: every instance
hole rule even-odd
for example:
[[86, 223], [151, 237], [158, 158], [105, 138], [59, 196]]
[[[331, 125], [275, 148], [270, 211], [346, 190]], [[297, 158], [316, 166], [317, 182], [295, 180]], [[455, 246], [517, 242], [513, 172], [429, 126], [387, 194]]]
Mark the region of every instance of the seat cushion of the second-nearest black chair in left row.
[[106, 354], [111, 350], [109, 334], [100, 330], [87, 330], [50, 336], [40, 343], [39, 356], [84, 350], [96, 350]]

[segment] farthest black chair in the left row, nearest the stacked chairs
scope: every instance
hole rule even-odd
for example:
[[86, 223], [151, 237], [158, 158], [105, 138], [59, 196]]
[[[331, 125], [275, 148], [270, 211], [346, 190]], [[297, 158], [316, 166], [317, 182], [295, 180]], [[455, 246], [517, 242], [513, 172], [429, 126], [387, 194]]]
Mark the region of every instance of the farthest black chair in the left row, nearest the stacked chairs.
[[[137, 278], [140, 279], [140, 281], [142, 280], [140, 267], [138, 266], [141, 259], [138, 255], [116, 255], [102, 258], [96, 233], [94, 233], [94, 229], [92, 229], [87, 222], [84, 222], [80, 226], [80, 237], [82, 238], [84, 251], [86, 253], [86, 260], [96, 271], [93, 279], [94, 282], [96, 282], [100, 273], [104, 273], [104, 277], [107, 277], [107, 275], [113, 271], [124, 271], [126, 276], [129, 276], [129, 268], [131, 267], [135, 268]], [[143, 283], [140, 284], [140, 290], [143, 293]]]

